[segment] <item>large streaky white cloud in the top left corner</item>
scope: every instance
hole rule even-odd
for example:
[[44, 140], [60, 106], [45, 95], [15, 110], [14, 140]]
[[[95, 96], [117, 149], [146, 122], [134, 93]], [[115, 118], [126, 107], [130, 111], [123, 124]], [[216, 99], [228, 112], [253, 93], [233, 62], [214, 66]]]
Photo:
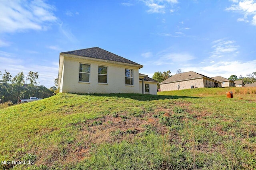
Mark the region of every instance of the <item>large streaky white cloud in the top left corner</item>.
[[57, 20], [53, 14], [54, 6], [42, 0], [0, 0], [0, 6], [1, 33], [13, 33], [27, 29], [46, 30], [49, 22]]

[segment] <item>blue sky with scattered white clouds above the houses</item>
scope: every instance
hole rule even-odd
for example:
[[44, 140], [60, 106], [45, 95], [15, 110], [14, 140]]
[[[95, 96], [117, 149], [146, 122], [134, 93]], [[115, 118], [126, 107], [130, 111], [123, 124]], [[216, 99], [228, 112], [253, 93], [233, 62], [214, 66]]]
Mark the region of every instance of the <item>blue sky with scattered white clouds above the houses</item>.
[[0, 0], [0, 71], [39, 73], [48, 88], [59, 53], [100, 47], [144, 65], [206, 76], [256, 71], [256, 0]]

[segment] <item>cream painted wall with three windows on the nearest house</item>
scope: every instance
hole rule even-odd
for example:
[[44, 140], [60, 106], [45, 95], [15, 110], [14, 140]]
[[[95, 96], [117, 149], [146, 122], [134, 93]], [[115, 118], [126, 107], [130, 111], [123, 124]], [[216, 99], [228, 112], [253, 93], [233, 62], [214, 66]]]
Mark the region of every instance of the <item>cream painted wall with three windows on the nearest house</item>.
[[[79, 82], [79, 65], [90, 64], [90, 82]], [[108, 66], [108, 84], [98, 83], [98, 66]], [[133, 70], [134, 85], [125, 84], [125, 69]], [[139, 93], [138, 68], [119, 64], [65, 57], [60, 92]]]

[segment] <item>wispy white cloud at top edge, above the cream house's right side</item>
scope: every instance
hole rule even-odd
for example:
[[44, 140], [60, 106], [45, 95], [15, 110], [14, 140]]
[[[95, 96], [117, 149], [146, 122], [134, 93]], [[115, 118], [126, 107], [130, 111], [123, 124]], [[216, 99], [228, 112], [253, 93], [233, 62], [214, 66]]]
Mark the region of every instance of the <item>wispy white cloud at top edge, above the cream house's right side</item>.
[[[166, 9], [171, 8], [174, 4], [178, 3], [178, 0], [142, 0], [144, 4], [149, 8], [148, 13], [166, 13]], [[175, 10], [173, 8], [169, 9], [172, 13]]]

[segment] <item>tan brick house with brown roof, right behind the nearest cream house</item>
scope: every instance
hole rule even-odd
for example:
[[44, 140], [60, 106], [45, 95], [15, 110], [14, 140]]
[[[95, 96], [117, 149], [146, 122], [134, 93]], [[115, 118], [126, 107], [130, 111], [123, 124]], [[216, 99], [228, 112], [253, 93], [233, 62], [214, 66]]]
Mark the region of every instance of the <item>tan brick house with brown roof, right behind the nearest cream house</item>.
[[161, 92], [189, 88], [221, 87], [221, 82], [193, 71], [175, 74], [159, 84]]

